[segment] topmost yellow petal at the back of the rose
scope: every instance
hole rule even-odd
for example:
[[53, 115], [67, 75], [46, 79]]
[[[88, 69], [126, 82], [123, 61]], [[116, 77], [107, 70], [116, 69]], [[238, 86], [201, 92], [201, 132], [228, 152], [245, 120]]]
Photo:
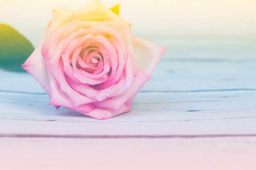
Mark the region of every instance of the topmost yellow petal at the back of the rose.
[[126, 21], [101, 4], [99, 0], [93, 0], [84, 8], [75, 11], [72, 14], [71, 20], [75, 19], [82, 19], [84, 21], [110, 20], [129, 26]]

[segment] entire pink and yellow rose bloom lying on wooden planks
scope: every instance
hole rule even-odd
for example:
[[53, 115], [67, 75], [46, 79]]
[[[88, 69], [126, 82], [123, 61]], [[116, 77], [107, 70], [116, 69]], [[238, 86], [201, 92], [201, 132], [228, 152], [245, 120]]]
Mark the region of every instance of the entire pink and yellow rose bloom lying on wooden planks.
[[165, 51], [132, 36], [131, 26], [98, 0], [77, 11], [54, 10], [42, 40], [21, 67], [56, 109], [101, 120], [130, 112]]

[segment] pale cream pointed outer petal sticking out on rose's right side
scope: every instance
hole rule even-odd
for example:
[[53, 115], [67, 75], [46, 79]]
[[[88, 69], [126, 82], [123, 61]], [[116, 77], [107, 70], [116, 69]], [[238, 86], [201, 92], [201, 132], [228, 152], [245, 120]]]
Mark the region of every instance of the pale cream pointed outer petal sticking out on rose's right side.
[[132, 36], [132, 43], [136, 67], [150, 75], [166, 48], [135, 36]]

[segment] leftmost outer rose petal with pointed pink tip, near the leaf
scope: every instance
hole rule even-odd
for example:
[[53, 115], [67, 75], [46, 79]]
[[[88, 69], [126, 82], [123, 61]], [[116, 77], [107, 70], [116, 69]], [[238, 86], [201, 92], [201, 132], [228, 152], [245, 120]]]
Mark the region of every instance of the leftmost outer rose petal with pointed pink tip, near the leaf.
[[29, 58], [21, 65], [21, 67], [31, 74], [36, 81], [43, 87], [49, 97], [51, 97], [50, 83], [48, 79], [48, 73], [44, 61], [44, 57], [41, 53], [41, 48], [44, 44], [44, 40], [48, 36], [51, 27], [51, 22], [48, 24], [44, 36], [36, 47], [35, 51], [29, 56]]

